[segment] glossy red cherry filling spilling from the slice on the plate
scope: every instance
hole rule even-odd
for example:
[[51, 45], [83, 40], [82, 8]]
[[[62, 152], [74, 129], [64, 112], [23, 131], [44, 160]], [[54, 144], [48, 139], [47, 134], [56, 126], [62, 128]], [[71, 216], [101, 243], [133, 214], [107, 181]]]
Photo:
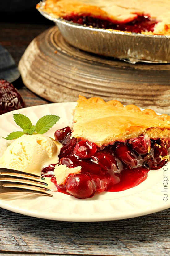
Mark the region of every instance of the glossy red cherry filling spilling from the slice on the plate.
[[67, 177], [58, 185], [51, 164], [42, 170], [42, 176], [51, 177], [57, 190], [76, 198], [92, 197], [95, 192], [123, 191], [137, 186], [147, 178], [150, 169], [163, 167], [168, 159], [169, 139], [150, 139], [147, 134], [99, 148], [95, 143], [71, 138], [70, 127], [57, 130], [55, 140], [63, 147], [59, 164], [81, 166], [81, 172]]

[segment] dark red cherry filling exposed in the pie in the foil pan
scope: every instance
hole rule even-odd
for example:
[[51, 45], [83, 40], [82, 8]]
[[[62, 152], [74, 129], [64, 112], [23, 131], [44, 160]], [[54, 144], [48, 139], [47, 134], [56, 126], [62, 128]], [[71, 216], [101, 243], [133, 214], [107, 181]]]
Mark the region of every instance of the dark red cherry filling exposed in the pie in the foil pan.
[[154, 26], [158, 22], [155, 19], [151, 19], [148, 15], [137, 15], [134, 20], [126, 20], [124, 22], [105, 20], [101, 17], [93, 18], [87, 15], [75, 15], [70, 14], [63, 17], [65, 20], [72, 21], [81, 25], [92, 26], [102, 29], [116, 29], [120, 31], [128, 31], [132, 33], [141, 33], [154, 31]]

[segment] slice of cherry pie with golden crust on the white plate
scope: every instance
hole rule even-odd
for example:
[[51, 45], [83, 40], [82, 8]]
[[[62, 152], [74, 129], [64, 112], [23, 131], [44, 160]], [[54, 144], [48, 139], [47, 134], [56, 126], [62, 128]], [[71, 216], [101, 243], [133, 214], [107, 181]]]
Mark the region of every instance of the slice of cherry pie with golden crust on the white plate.
[[57, 130], [59, 164], [42, 170], [58, 191], [77, 198], [137, 186], [169, 160], [170, 116], [119, 101], [79, 96], [73, 129]]

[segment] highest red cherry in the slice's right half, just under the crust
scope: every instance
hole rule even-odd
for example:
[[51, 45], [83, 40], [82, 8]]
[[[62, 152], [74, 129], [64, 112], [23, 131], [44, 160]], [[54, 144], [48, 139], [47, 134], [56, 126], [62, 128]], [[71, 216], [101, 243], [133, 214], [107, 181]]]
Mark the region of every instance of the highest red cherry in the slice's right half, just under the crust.
[[148, 135], [140, 135], [137, 138], [130, 139], [128, 143], [139, 155], [146, 154], [151, 149], [151, 141]]

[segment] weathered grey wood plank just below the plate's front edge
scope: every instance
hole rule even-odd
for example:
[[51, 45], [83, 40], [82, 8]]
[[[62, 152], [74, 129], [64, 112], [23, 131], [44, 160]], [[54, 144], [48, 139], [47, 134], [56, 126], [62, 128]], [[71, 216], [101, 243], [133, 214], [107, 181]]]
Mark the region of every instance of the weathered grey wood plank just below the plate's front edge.
[[165, 256], [170, 209], [109, 222], [59, 222], [0, 209], [0, 251], [36, 254]]

